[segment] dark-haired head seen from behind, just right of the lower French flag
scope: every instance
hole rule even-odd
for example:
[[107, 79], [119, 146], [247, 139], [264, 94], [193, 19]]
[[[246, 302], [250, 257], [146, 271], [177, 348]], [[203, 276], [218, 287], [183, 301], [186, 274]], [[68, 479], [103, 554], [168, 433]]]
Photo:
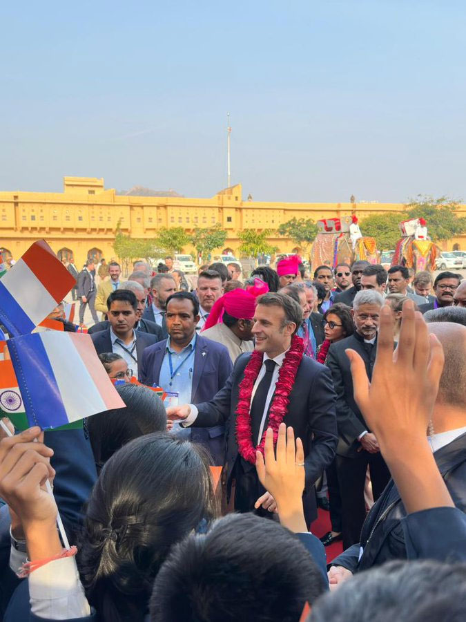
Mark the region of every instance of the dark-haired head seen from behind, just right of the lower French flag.
[[104, 411], [87, 420], [97, 473], [115, 451], [130, 440], [166, 431], [165, 406], [153, 390], [137, 384], [122, 384], [115, 388], [126, 408]]

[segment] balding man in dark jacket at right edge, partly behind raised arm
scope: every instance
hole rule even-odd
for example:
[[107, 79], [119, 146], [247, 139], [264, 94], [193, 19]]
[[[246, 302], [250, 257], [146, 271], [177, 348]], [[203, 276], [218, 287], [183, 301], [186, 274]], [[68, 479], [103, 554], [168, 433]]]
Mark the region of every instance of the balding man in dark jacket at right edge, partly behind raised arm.
[[[431, 415], [429, 444], [454, 504], [465, 512], [466, 328], [448, 322], [432, 323], [428, 328], [442, 344], [445, 356], [438, 395]], [[424, 512], [417, 514], [425, 520]], [[378, 502], [369, 511], [358, 543], [332, 561], [332, 565], [342, 567], [338, 574], [350, 576], [394, 559], [406, 559], [406, 531], [402, 525], [405, 516], [407, 510], [400, 491], [391, 480]], [[416, 513], [411, 514], [411, 517], [414, 516]], [[447, 523], [445, 530], [446, 525]], [[425, 525], [420, 525], [420, 531], [425, 531]], [[442, 535], [440, 534], [440, 538]], [[448, 534], [445, 533], [445, 536]], [[438, 547], [441, 545], [440, 538], [437, 541]]]

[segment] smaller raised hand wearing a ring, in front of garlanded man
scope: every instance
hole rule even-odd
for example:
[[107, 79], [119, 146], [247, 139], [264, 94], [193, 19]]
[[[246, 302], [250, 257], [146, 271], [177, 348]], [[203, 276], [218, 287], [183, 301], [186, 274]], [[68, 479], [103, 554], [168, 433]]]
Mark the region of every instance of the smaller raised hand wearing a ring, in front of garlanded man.
[[273, 431], [269, 428], [265, 437], [264, 456], [257, 451], [255, 457], [260, 483], [275, 500], [282, 525], [291, 531], [307, 531], [302, 509], [304, 449], [299, 438], [295, 442], [293, 428], [287, 430], [284, 423], [278, 428], [276, 453], [275, 459]]

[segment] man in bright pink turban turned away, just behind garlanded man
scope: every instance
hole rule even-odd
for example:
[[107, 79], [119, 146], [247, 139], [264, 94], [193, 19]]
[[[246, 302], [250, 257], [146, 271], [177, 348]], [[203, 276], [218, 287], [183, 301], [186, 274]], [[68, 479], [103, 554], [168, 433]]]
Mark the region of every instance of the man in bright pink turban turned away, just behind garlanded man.
[[264, 294], [267, 289], [261, 291], [255, 286], [249, 291], [237, 289], [227, 292], [215, 302], [208, 315], [202, 337], [222, 343], [229, 351], [233, 364], [240, 354], [254, 349], [251, 330], [256, 291]]

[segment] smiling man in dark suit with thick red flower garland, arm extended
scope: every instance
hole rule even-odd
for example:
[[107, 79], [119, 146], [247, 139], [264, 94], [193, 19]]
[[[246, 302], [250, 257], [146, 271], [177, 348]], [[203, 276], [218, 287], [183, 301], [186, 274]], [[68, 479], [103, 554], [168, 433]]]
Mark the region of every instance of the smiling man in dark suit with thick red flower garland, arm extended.
[[[235, 480], [235, 509], [238, 511], [253, 511], [255, 507], [260, 509], [261, 505], [260, 511], [275, 510], [273, 497], [260, 486], [255, 471], [254, 448], [264, 440], [269, 411], [277, 406], [275, 400], [278, 397], [280, 401], [283, 393], [288, 396], [289, 404], [280, 415], [287, 426], [293, 426], [295, 435], [304, 444], [307, 490], [313, 488], [315, 480], [335, 455], [336, 397], [331, 375], [326, 367], [302, 355], [301, 340], [295, 337], [301, 323], [302, 310], [291, 296], [264, 294], [255, 308], [255, 352], [238, 357], [226, 385], [211, 402], [197, 406], [184, 404], [167, 410], [168, 417], [185, 420], [184, 425], [226, 424], [227, 493], [230, 496]], [[250, 361], [249, 382], [242, 391], [244, 414], [240, 420], [239, 446], [236, 425], [240, 384]], [[275, 393], [277, 388], [279, 395]], [[247, 410], [249, 415], [246, 416]], [[307, 512], [308, 524], [317, 515], [313, 495], [312, 499], [313, 507]], [[270, 513], [265, 511], [264, 515], [270, 516]]]

